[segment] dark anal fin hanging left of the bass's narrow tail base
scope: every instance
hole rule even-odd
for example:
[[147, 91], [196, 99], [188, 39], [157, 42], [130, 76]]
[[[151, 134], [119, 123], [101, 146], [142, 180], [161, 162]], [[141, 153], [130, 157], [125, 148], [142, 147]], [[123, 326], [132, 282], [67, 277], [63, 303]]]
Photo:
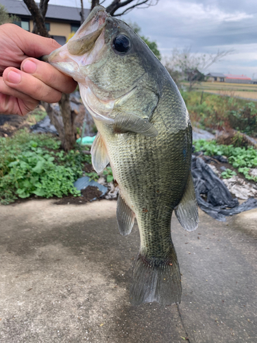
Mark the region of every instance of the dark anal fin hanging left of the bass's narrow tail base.
[[117, 222], [121, 235], [130, 235], [134, 226], [134, 219], [134, 212], [127, 206], [123, 198], [121, 198], [121, 194], [119, 194], [117, 201]]

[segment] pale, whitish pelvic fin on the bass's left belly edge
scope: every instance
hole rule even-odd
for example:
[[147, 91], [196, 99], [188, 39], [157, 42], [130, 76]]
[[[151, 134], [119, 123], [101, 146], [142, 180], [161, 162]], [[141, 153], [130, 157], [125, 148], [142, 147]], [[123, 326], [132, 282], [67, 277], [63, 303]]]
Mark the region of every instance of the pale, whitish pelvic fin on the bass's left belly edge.
[[95, 140], [93, 141], [91, 147], [91, 155], [92, 164], [97, 173], [102, 171], [106, 167], [106, 165], [108, 165], [109, 156], [107, 154], [106, 145], [104, 145], [103, 139], [101, 138], [101, 134], [99, 134], [99, 132], [97, 133], [97, 137], [95, 137]]

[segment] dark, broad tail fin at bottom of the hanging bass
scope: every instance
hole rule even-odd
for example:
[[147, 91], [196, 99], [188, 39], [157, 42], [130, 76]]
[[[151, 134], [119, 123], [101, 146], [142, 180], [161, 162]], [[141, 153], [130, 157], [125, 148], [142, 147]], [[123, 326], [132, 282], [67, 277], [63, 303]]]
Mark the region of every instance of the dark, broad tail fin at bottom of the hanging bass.
[[180, 267], [175, 249], [169, 259], [147, 259], [140, 252], [134, 263], [130, 302], [132, 305], [152, 303], [160, 305], [180, 303], [181, 280]]

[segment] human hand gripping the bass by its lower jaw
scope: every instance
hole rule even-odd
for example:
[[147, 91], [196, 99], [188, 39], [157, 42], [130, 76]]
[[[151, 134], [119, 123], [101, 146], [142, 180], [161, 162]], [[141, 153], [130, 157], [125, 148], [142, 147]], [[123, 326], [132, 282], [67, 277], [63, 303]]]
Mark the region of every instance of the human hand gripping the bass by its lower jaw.
[[23, 116], [40, 100], [58, 102], [62, 93], [75, 90], [77, 83], [72, 78], [35, 59], [58, 49], [55, 40], [4, 24], [0, 46], [0, 113]]

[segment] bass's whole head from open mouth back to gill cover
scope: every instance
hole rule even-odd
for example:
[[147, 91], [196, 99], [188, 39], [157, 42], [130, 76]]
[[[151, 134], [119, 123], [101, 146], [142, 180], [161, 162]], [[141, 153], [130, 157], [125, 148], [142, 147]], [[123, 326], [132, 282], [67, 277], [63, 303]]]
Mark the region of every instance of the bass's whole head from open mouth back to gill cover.
[[121, 104], [121, 98], [132, 94], [153, 59], [157, 60], [129, 25], [96, 6], [48, 62], [79, 83], [86, 108], [95, 119], [104, 119], [115, 102]]

